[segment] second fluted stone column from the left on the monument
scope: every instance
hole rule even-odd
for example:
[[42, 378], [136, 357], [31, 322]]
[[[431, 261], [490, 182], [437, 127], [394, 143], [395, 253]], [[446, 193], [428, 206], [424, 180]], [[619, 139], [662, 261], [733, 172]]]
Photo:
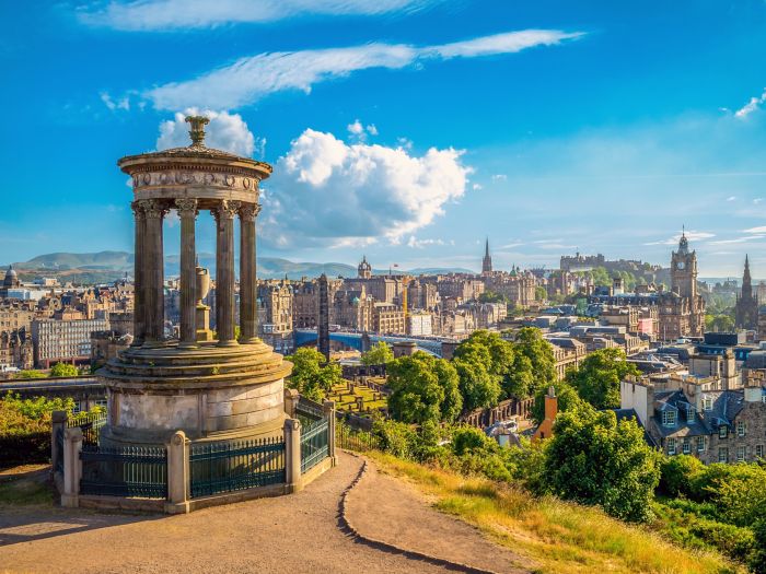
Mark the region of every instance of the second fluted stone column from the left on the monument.
[[143, 273], [146, 284], [146, 342], [148, 347], [162, 344], [165, 338], [164, 253], [162, 248], [162, 220], [167, 210], [155, 199], [141, 201], [146, 213], [143, 237]]

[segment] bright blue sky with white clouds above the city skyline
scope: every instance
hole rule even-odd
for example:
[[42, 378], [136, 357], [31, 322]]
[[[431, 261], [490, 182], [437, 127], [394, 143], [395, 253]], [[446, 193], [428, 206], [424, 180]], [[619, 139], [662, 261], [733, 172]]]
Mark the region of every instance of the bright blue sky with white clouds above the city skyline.
[[766, 277], [763, 0], [207, 4], [2, 3], [0, 261], [130, 250], [116, 161], [197, 108], [275, 165], [262, 255], [666, 263], [686, 225], [703, 276]]

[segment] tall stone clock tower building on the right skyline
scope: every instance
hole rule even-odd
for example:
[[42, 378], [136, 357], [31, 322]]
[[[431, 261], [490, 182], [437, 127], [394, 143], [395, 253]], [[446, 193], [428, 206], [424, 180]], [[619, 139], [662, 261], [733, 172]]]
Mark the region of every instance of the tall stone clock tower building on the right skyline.
[[705, 330], [705, 300], [697, 290], [697, 253], [690, 251], [686, 234], [671, 257], [671, 291], [659, 294], [659, 338], [701, 337]]

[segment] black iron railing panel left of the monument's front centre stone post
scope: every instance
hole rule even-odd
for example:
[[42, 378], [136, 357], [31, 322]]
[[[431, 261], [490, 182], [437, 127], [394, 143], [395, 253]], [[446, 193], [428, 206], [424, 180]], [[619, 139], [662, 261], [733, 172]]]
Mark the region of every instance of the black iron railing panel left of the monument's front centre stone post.
[[104, 448], [83, 444], [82, 494], [166, 499], [167, 452], [164, 446]]

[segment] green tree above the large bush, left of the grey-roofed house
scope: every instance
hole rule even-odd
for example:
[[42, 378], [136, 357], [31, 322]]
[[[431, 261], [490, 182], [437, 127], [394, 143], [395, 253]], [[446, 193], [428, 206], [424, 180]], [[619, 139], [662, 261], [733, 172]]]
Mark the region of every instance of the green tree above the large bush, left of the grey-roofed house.
[[619, 382], [627, 375], [639, 374], [636, 365], [626, 361], [622, 349], [599, 349], [589, 354], [579, 367], [569, 370], [566, 380], [577, 389], [581, 399], [596, 409], [617, 409]]

